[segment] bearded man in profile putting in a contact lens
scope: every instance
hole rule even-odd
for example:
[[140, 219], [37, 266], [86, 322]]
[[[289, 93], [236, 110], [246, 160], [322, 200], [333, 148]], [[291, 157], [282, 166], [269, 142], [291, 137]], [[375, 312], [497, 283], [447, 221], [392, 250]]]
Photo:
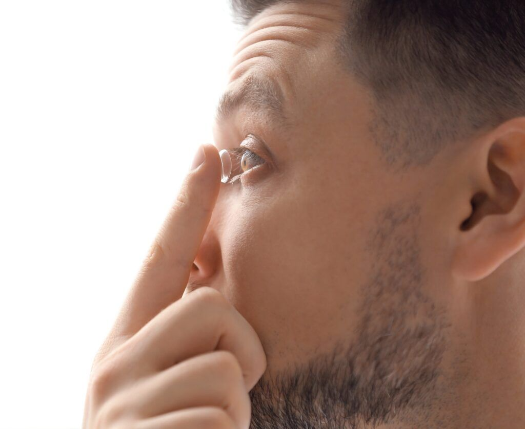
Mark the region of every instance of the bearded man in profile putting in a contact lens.
[[525, 427], [525, 5], [233, 5], [84, 427]]

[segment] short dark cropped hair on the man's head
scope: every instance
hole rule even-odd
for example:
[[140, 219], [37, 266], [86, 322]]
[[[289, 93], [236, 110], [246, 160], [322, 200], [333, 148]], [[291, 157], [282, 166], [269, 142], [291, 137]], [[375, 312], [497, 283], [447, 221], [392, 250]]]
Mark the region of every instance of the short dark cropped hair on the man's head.
[[[247, 24], [276, 3], [231, 0]], [[390, 165], [424, 165], [525, 114], [523, 0], [341, 0], [344, 64], [373, 95], [371, 131]]]

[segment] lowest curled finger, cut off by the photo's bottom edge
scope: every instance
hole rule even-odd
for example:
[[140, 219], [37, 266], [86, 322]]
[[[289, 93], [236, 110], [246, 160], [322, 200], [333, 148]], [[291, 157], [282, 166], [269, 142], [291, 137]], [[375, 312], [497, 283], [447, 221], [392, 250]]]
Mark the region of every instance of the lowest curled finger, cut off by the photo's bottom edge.
[[137, 429], [239, 429], [226, 411], [212, 406], [174, 411], [141, 420], [133, 427]]

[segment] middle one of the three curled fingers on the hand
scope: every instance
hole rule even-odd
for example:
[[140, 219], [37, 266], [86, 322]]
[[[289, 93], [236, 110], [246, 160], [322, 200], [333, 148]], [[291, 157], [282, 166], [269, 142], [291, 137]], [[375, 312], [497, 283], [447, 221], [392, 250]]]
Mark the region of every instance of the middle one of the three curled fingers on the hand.
[[238, 427], [248, 427], [251, 415], [239, 362], [226, 351], [195, 356], [143, 379], [125, 392], [125, 403], [140, 417], [194, 406], [218, 406]]

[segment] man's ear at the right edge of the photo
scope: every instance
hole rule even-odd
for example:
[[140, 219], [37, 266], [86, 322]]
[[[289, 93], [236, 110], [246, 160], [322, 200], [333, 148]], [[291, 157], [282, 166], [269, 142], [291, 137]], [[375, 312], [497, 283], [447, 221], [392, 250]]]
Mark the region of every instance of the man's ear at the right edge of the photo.
[[487, 277], [525, 247], [525, 117], [507, 121], [475, 142], [476, 157], [466, 173], [477, 191], [472, 212], [460, 226], [453, 273], [475, 282]]

